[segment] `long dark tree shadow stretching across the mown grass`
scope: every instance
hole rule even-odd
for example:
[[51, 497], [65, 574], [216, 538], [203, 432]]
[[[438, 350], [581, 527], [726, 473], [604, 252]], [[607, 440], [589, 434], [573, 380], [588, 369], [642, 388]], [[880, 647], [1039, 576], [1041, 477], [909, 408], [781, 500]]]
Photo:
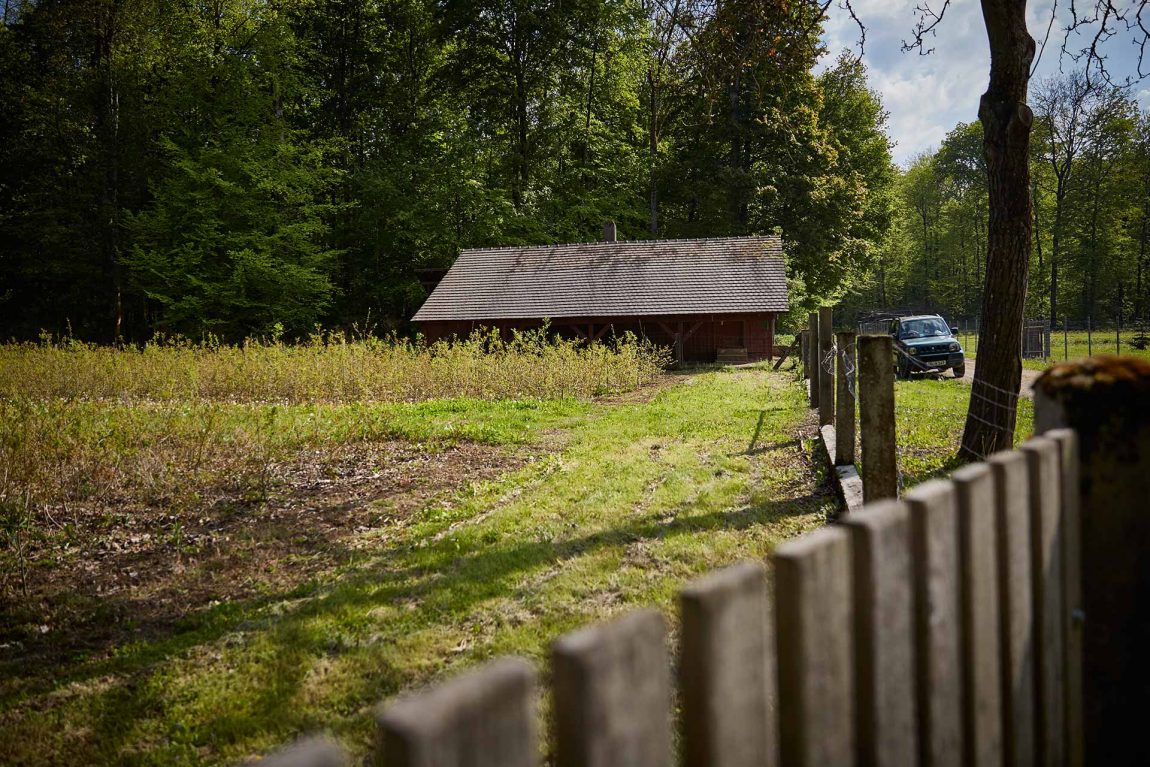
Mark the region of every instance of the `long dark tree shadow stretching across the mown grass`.
[[[327, 626], [325, 619], [339, 624], [348, 615], [366, 619], [376, 606], [414, 603], [414, 612], [404, 615], [401, 623], [412, 623], [413, 629], [451, 626], [488, 599], [524, 595], [528, 586], [520, 585], [520, 580], [539, 568], [562, 566], [610, 546], [769, 524], [810, 514], [825, 501], [826, 496], [815, 492], [790, 500], [752, 503], [702, 515], [691, 515], [693, 504], [683, 501], [647, 519], [565, 540], [520, 542], [476, 547], [462, 553], [457, 550], [457, 542], [446, 537], [425, 549], [406, 547], [365, 561], [325, 589], [314, 585], [298, 588], [206, 611], [195, 619], [190, 630], [132, 647], [112, 660], [53, 674], [43, 678], [34, 689], [25, 689], [21, 697], [69, 682], [120, 676], [102, 691], [90, 693], [87, 705], [98, 715], [91, 730], [82, 736], [83, 741], [99, 754], [117, 760], [122, 746], [138, 741], [138, 720], [156, 718], [161, 720], [159, 727], [171, 729], [175, 726], [178, 729], [175, 733], [156, 733], [168, 744], [166, 756], [178, 758], [183, 753], [187, 759], [198, 761], [194, 749], [207, 746], [214, 750], [260, 736], [284, 739], [301, 729], [324, 724], [322, 721], [301, 720], [305, 714], [298, 710], [298, 696], [316, 658], [359, 654], [362, 665], [371, 669], [370, 674], [360, 675], [361, 678], [356, 678], [344, 695], [344, 711], [325, 710], [324, 716], [356, 716], [365, 705], [371, 705], [412, 683], [413, 669], [393, 665], [386, 655], [385, 639], [381, 642], [371, 637], [361, 643], [332, 637], [316, 630], [320, 624]], [[291, 600], [298, 600], [298, 604], [292, 605]], [[276, 615], [259, 614], [276, 604], [288, 606]], [[159, 670], [162, 674], [162, 669], [156, 667], [164, 661], [186, 658], [201, 645], [218, 642], [225, 635], [240, 630], [250, 636], [259, 635], [260, 641], [270, 646], [269, 652], [260, 655], [256, 673], [245, 675], [240, 682], [244, 705], [221, 704], [199, 721], [172, 722], [164, 711], [169, 697], [163, 684], [152, 683], [153, 673]], [[205, 673], [214, 674], [216, 669]], [[6, 701], [3, 707], [8, 708], [12, 703]]]

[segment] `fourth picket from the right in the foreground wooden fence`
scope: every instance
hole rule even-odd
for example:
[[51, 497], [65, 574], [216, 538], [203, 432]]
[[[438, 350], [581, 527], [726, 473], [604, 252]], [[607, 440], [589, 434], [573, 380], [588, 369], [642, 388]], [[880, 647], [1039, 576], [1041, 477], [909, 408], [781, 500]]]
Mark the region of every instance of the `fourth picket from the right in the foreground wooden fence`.
[[1003, 764], [1002, 629], [998, 615], [998, 535], [995, 484], [986, 463], [951, 476], [958, 497], [964, 764]]

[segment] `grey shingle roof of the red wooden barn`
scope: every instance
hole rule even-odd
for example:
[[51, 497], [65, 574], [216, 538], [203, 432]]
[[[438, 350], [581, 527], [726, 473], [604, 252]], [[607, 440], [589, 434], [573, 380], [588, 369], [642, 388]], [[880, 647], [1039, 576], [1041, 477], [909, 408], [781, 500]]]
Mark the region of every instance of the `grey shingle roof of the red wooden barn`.
[[722, 237], [463, 251], [414, 320], [787, 309], [780, 238]]

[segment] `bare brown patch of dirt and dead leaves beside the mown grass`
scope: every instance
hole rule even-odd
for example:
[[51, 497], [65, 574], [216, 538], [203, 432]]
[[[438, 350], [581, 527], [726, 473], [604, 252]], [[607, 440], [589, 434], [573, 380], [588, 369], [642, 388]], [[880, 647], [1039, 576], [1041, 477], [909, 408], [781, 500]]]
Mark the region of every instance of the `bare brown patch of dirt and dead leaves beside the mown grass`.
[[282, 595], [363, 546], [386, 545], [388, 528], [437, 498], [531, 457], [474, 444], [351, 444], [273, 465], [263, 498], [202, 488], [201, 503], [183, 511], [139, 499], [68, 509], [67, 543], [54, 536], [31, 552], [51, 565], [0, 592], [0, 665], [100, 658], [210, 606]]

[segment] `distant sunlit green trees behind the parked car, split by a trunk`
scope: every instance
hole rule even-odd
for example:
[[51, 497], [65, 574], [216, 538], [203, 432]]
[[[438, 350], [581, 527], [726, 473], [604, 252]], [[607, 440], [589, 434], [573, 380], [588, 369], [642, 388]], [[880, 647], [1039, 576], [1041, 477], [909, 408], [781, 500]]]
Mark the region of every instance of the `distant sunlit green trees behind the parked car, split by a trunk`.
[[[1034, 243], [1027, 316], [1059, 327], [1150, 320], [1150, 113], [1082, 72], [1030, 86]], [[957, 125], [917, 156], [859, 313], [915, 307], [979, 314], [987, 256], [982, 126]]]

